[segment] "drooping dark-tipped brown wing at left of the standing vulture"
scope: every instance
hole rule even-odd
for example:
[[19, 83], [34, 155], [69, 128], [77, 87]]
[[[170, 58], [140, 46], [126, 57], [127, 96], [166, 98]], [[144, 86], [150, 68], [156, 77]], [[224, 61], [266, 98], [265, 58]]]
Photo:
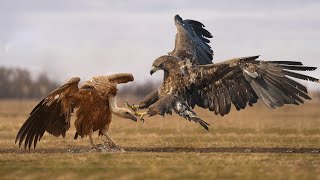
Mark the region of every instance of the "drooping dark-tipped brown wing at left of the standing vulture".
[[24, 148], [30, 149], [32, 143], [36, 147], [45, 131], [54, 136], [65, 136], [70, 128], [71, 113], [78, 103], [79, 81], [78, 77], [70, 79], [32, 110], [17, 134], [16, 142], [19, 141], [19, 146], [24, 141]]

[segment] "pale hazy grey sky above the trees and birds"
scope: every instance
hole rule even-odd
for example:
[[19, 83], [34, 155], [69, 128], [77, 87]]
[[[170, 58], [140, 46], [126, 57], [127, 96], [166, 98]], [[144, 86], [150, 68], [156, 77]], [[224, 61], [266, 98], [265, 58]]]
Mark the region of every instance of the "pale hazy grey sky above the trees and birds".
[[59, 81], [117, 72], [159, 79], [149, 70], [173, 49], [175, 14], [206, 25], [214, 62], [262, 55], [320, 67], [320, 1], [311, 0], [0, 0], [0, 66]]

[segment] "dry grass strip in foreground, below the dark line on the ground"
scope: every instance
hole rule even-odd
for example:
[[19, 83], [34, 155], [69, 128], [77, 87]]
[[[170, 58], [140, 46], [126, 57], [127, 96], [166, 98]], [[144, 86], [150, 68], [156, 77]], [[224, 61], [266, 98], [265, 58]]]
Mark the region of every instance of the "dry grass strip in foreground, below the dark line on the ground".
[[320, 174], [318, 155], [304, 154], [38, 154], [6, 156], [0, 162], [0, 173], [8, 179], [317, 179]]

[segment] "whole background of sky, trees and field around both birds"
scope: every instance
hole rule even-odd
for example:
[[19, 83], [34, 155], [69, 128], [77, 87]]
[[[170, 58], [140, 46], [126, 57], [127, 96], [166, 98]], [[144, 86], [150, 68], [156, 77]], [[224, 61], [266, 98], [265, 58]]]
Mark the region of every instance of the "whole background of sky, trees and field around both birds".
[[258, 103], [224, 117], [196, 107], [210, 131], [177, 114], [114, 116], [109, 133], [129, 153], [90, 152], [73, 125], [66, 138], [18, 148], [39, 98], [71, 77], [132, 73], [119, 106], [157, 88], [163, 72], [149, 71], [174, 48], [176, 14], [206, 25], [213, 62], [261, 55], [320, 67], [319, 0], [0, 0], [0, 179], [320, 179], [316, 83], [304, 82], [313, 100], [299, 107]]

